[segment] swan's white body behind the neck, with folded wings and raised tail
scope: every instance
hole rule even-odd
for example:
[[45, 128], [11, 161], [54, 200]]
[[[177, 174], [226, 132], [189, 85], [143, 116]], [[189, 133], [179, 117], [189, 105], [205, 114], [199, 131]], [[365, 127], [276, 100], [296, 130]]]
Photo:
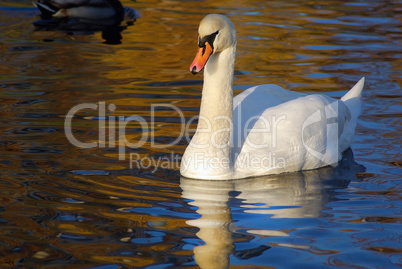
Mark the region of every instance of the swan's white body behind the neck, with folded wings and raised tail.
[[353, 138], [363, 83], [359, 81], [341, 100], [277, 85], [256, 86], [236, 96], [232, 141], [236, 177], [337, 163]]

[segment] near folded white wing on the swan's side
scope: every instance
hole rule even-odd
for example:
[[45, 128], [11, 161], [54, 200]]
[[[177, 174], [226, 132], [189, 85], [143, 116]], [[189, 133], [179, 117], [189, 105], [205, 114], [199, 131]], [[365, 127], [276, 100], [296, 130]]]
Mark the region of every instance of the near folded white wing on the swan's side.
[[[249, 123], [240, 121], [242, 129], [234, 122], [233, 137], [240, 138], [234, 143], [241, 142], [234, 153], [237, 156], [232, 156], [236, 169], [254, 175], [267, 170], [282, 173], [314, 169], [341, 159], [342, 151], [349, 146], [341, 140], [350, 121], [349, 109], [342, 101], [324, 95], [300, 95], [257, 114], [243, 114], [249, 116]], [[239, 130], [246, 130], [246, 134], [235, 135]], [[256, 167], [258, 162], [264, 165]]]

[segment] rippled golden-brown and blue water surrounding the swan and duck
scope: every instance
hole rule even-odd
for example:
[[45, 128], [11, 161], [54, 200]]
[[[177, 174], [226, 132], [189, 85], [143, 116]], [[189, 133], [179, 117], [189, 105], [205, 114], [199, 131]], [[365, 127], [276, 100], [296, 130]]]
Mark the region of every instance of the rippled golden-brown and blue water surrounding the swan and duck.
[[[122, 2], [143, 16], [120, 45], [35, 31], [30, 1], [0, 2], [2, 268], [401, 266], [400, 1]], [[162, 105], [198, 114], [202, 76], [188, 67], [212, 12], [237, 28], [236, 93], [340, 97], [366, 77], [353, 153], [304, 173], [180, 178], [187, 141], [169, 146], [182, 124]], [[66, 137], [80, 104], [96, 107], [74, 114], [72, 135], [96, 147]], [[127, 141], [110, 128], [119, 116], [138, 120]], [[147, 141], [119, 147], [141, 142], [140, 119]]]

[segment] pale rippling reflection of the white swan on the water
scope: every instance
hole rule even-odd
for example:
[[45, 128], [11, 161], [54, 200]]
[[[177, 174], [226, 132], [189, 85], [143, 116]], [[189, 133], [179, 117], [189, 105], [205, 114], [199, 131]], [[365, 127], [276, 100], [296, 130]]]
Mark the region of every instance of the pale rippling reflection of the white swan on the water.
[[[363, 170], [364, 167], [354, 162], [349, 149], [337, 167], [244, 180], [181, 178], [182, 197], [192, 200], [189, 204], [197, 206], [197, 213], [201, 215], [199, 219], [187, 221], [200, 229], [197, 236], [205, 242], [205, 245], [194, 248], [197, 264], [201, 268], [227, 268], [231, 253], [247, 259], [270, 248], [262, 245], [245, 254], [235, 251], [232, 239], [235, 228], [231, 226], [229, 205], [233, 196], [242, 201], [241, 207], [246, 214], [268, 214], [272, 218], [316, 218], [323, 214], [327, 203], [337, 199], [334, 190], [346, 188], [352, 179], [356, 180], [355, 174]], [[269, 223], [266, 226], [269, 227]], [[269, 228], [245, 230], [248, 234], [260, 236], [288, 236], [286, 231]]]

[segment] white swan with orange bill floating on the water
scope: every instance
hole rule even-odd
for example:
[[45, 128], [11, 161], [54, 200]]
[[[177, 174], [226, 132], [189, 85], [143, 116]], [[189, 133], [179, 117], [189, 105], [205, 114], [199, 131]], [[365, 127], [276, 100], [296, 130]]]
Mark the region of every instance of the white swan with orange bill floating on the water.
[[236, 179], [336, 164], [352, 141], [361, 111], [362, 78], [340, 100], [267, 84], [233, 98], [236, 30], [223, 15], [200, 23], [193, 74], [204, 67], [196, 133], [180, 173]]

